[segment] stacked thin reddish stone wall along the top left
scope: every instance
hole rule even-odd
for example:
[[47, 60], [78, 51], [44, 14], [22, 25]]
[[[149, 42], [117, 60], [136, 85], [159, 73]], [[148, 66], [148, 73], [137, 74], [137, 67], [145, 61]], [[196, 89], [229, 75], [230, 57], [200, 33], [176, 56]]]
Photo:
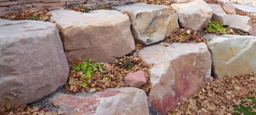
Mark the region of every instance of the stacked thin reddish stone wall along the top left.
[[86, 6], [113, 6], [130, 2], [138, 2], [139, 0], [0, 0], [0, 16], [7, 13], [18, 12], [25, 6], [35, 9], [64, 9], [72, 8], [78, 4]]

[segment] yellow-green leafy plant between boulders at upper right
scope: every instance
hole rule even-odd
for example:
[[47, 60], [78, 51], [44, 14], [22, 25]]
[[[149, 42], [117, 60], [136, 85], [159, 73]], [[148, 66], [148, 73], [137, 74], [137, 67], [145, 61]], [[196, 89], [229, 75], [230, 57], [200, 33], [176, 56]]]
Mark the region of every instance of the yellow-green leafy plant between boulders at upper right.
[[225, 33], [227, 34], [227, 28], [224, 28], [223, 25], [221, 24], [221, 22], [209, 22], [208, 26], [206, 27], [206, 30], [209, 32], [220, 32], [220, 33]]

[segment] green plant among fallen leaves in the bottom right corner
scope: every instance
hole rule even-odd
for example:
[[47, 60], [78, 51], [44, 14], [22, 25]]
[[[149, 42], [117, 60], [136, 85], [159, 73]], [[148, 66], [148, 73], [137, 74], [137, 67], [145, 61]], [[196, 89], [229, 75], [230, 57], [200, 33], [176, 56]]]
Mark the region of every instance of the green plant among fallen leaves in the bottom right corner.
[[[251, 112], [253, 111], [253, 109], [256, 109], [256, 100], [255, 97], [248, 97], [247, 99], [250, 99], [252, 101], [252, 103], [249, 103], [250, 105], [248, 105], [248, 107], [244, 107], [243, 104], [246, 103], [245, 99], [242, 98], [242, 104], [240, 104], [240, 106], [233, 106], [234, 107], [234, 111], [238, 111], [240, 113], [244, 113], [247, 115], [255, 115], [255, 112]], [[233, 115], [239, 115], [239, 113], [233, 113]]]

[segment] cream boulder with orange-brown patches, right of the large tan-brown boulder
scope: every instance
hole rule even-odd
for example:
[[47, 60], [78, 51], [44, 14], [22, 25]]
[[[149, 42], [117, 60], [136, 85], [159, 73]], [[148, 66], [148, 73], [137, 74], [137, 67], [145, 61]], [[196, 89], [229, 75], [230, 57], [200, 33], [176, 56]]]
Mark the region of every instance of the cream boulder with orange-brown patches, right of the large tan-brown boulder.
[[136, 43], [149, 45], [162, 41], [179, 28], [176, 14], [167, 6], [136, 3], [113, 8], [130, 13], [131, 31]]

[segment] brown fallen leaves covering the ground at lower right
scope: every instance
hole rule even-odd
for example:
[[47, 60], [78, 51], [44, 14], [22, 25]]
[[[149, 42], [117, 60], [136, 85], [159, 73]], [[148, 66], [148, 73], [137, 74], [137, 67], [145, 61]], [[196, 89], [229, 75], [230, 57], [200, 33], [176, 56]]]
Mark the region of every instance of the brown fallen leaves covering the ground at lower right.
[[255, 102], [256, 97], [255, 82], [255, 73], [215, 79], [213, 83], [207, 83], [206, 87], [195, 92], [186, 101], [181, 101], [180, 106], [169, 111], [168, 114], [245, 114], [243, 109], [239, 109], [242, 107], [240, 105], [250, 106], [248, 112], [256, 114], [256, 105], [252, 103]]

